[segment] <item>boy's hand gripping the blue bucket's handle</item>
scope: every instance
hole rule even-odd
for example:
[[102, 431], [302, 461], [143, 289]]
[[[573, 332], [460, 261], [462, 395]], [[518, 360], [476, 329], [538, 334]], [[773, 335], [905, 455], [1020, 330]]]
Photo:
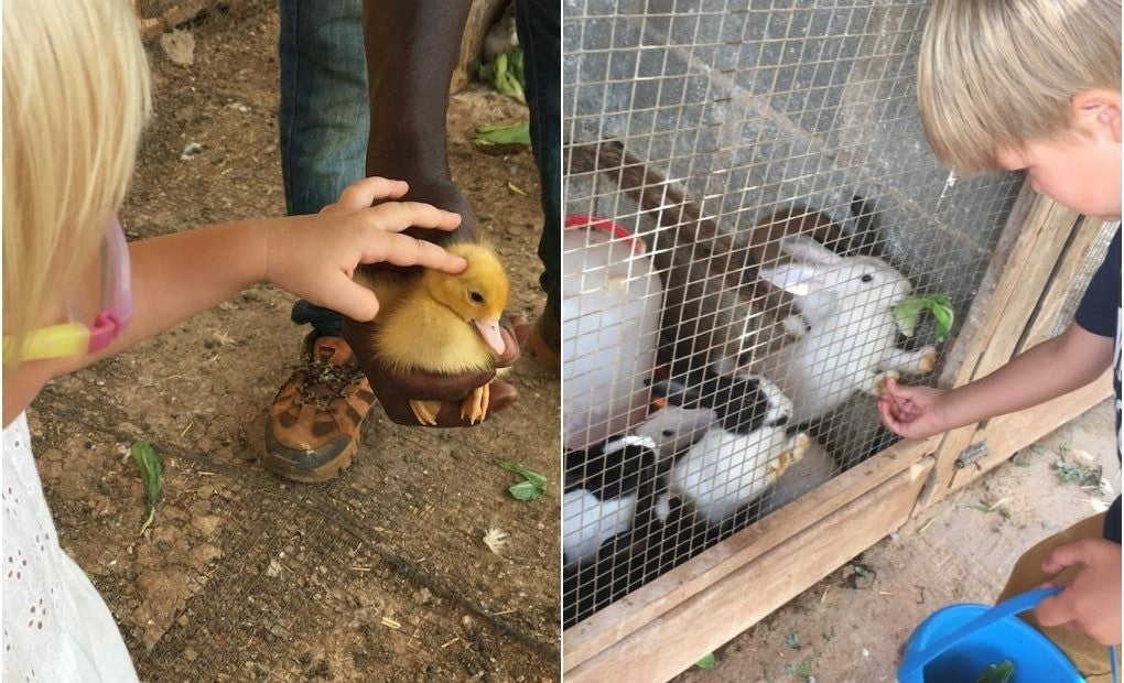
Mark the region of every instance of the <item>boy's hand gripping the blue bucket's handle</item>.
[[1104, 538], [1082, 538], [1054, 548], [1042, 571], [1077, 567], [1066, 590], [1034, 609], [1042, 626], [1071, 626], [1102, 645], [1121, 641], [1121, 547]]

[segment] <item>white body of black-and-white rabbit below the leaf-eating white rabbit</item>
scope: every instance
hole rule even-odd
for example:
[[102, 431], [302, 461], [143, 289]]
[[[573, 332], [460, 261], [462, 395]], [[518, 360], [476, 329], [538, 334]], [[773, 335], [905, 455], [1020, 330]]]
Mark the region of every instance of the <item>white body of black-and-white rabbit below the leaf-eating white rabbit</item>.
[[711, 426], [676, 459], [668, 473], [667, 493], [656, 502], [655, 513], [661, 521], [671, 514], [670, 498], [678, 495], [707, 522], [719, 523], [804, 457], [812, 443], [808, 436], [785, 434], [791, 401], [772, 382], [759, 379], [756, 386], [767, 403], [760, 420], [741, 431]]

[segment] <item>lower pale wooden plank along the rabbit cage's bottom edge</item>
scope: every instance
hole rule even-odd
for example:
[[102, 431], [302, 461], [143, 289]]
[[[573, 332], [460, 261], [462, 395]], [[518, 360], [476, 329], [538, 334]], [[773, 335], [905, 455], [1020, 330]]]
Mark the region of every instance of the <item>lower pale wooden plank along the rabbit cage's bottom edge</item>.
[[[743, 563], [708, 590], [652, 619], [613, 647], [580, 665], [566, 666], [565, 681], [671, 679], [897, 529], [908, 519], [932, 464], [932, 458], [922, 457], [898, 470], [865, 495]], [[720, 554], [723, 545], [707, 553]], [[571, 640], [566, 639], [563, 649], [570, 647]]]

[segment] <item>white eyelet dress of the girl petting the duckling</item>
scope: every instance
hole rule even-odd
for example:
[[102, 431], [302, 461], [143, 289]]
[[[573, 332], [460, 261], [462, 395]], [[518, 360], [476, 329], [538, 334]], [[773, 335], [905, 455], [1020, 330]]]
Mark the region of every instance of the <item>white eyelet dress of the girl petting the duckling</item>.
[[22, 413], [3, 430], [0, 499], [4, 683], [136, 681], [114, 616], [58, 545]]

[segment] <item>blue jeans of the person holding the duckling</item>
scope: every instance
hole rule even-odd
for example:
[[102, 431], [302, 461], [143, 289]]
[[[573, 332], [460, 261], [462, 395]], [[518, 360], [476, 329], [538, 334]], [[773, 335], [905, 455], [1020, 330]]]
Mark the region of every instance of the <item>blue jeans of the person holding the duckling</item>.
[[[369, 102], [362, 0], [281, 0], [281, 172], [290, 215], [316, 213], [365, 174]], [[561, 33], [559, 0], [516, 0], [532, 148], [546, 216], [540, 282], [550, 319], [561, 316]], [[307, 301], [292, 321], [339, 336], [343, 318]]]

